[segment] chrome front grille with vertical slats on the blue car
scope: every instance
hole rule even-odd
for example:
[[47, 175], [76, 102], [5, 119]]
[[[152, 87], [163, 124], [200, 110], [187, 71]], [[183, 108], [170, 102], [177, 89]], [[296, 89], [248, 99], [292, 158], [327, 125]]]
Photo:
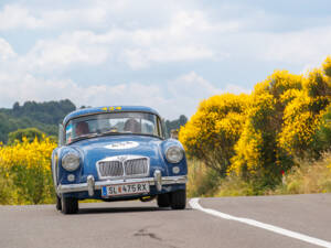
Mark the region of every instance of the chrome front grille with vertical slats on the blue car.
[[111, 157], [98, 161], [96, 165], [100, 179], [140, 177], [149, 174], [147, 157]]

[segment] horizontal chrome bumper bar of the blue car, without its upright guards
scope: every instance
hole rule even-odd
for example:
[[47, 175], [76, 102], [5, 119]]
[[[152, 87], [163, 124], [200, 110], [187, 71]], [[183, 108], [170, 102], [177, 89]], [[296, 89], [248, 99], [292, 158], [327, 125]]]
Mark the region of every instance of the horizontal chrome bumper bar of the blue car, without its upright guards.
[[[186, 175], [163, 176], [162, 177], [162, 185], [183, 184], [186, 182], [188, 182]], [[107, 180], [107, 181], [95, 182], [94, 190], [102, 190], [103, 186], [109, 186], [109, 185], [121, 184], [121, 183], [149, 183], [149, 185], [156, 185], [154, 177], [111, 180], [111, 181]], [[60, 184], [57, 186], [57, 194], [84, 192], [84, 191], [88, 191], [87, 183]]]

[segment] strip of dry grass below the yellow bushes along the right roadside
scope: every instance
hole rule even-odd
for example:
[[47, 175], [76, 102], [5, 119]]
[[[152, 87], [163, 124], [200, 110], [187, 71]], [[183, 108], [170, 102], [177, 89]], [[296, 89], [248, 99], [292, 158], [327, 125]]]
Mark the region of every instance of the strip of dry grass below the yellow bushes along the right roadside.
[[221, 179], [202, 162], [189, 161], [188, 195], [245, 196], [275, 194], [331, 193], [331, 152], [316, 162], [300, 161], [275, 190], [263, 188], [237, 176]]

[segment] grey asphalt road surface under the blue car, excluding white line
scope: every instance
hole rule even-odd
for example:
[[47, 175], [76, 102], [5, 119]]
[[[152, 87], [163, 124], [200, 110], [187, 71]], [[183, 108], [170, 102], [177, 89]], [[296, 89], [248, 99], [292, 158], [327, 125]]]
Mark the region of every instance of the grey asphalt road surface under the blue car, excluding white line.
[[[202, 198], [204, 208], [274, 225], [331, 244], [331, 194]], [[156, 202], [81, 204], [77, 215], [54, 205], [0, 206], [0, 248], [319, 247], [264, 228]]]

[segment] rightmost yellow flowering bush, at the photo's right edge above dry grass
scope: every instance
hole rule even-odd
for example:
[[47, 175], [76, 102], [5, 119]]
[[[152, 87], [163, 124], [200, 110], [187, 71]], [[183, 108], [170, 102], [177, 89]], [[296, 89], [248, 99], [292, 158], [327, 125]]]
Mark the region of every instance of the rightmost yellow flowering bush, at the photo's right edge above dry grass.
[[328, 76], [321, 69], [313, 69], [302, 85], [302, 90], [291, 94], [284, 110], [278, 142], [291, 155], [303, 158], [310, 153], [319, 157], [321, 149], [316, 149], [314, 142], [320, 142], [316, 140], [317, 132], [322, 128], [322, 117], [330, 104]]

